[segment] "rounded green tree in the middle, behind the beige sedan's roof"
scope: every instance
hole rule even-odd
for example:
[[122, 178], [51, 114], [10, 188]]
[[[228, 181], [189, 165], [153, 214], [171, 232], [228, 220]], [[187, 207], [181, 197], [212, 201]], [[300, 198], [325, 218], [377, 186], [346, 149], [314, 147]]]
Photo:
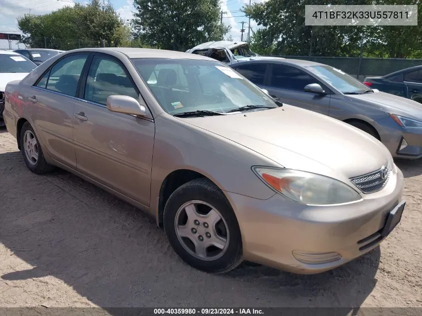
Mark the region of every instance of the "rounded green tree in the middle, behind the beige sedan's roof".
[[220, 40], [229, 27], [220, 23], [220, 0], [134, 0], [133, 34], [162, 49], [184, 51]]

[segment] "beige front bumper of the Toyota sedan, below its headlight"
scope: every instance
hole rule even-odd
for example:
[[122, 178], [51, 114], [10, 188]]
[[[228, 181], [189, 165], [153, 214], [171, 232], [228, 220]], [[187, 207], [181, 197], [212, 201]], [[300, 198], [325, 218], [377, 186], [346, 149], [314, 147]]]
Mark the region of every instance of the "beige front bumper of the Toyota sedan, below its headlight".
[[[226, 194], [239, 222], [245, 260], [316, 274], [362, 256], [385, 239], [380, 233], [402, 201], [403, 186], [403, 174], [395, 166], [383, 190], [346, 205], [313, 207], [280, 194], [268, 200]], [[306, 263], [307, 257], [320, 263]]]

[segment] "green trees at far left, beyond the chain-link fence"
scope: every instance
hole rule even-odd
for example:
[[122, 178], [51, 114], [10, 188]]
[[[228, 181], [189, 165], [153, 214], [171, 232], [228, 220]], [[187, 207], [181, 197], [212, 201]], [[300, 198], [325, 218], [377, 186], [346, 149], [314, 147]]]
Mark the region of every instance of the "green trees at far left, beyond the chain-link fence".
[[[76, 3], [44, 15], [25, 14], [17, 19], [24, 36], [22, 42], [31, 47], [78, 48], [80, 40], [119, 45], [127, 41], [128, 30], [110, 2], [91, 0]], [[48, 42], [47, 42], [48, 39]]]

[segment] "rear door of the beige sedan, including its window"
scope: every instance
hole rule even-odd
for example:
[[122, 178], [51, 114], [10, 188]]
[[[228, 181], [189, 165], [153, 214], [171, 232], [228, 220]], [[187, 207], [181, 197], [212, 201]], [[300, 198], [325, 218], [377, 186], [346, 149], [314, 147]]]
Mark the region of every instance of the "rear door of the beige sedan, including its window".
[[76, 166], [73, 146], [73, 108], [77, 85], [88, 54], [66, 56], [50, 67], [25, 91], [34, 128], [56, 161]]

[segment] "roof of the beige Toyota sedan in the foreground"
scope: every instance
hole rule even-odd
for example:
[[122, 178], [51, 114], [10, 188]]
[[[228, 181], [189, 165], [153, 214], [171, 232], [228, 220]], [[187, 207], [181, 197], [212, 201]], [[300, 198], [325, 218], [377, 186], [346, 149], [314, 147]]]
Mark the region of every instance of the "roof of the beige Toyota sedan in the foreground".
[[175, 58], [175, 59], [203, 59], [203, 60], [214, 60], [209, 57], [190, 54], [186, 52], [165, 50], [165, 49], [152, 49], [152, 48], [132, 48], [132, 47], [93, 47], [93, 48], [80, 48], [66, 51], [78, 52], [78, 51], [96, 51], [102, 53], [120, 52], [125, 54], [128, 58]]

